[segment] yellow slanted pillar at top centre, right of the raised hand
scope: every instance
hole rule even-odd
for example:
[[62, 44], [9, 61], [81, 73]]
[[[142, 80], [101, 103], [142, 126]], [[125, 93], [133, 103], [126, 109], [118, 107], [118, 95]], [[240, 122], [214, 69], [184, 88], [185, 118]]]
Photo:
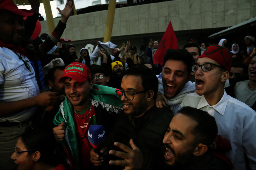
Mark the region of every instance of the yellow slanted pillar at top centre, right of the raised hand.
[[116, 4], [116, 0], [109, 1], [109, 8], [107, 10], [107, 20], [106, 20], [103, 43], [106, 43], [107, 41], [111, 41], [111, 33], [113, 28], [114, 16], [115, 16], [115, 4]]

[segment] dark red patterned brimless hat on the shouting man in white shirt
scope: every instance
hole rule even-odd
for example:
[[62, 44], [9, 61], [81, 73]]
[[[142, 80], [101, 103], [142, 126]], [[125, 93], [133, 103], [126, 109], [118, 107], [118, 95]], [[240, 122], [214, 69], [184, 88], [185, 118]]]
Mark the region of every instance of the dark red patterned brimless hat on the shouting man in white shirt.
[[210, 45], [208, 48], [206, 48], [205, 52], [198, 58], [203, 57], [211, 58], [214, 61], [217, 61], [230, 73], [232, 56], [226, 48], [219, 45]]

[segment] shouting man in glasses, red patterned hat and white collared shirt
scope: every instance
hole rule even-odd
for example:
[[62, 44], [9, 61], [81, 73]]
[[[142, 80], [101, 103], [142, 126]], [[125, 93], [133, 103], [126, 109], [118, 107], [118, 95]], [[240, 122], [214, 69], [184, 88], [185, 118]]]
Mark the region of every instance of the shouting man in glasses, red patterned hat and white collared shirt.
[[231, 60], [230, 53], [222, 46], [209, 46], [192, 66], [196, 93], [185, 96], [181, 107], [195, 107], [215, 118], [218, 135], [228, 139], [233, 148], [226, 155], [234, 169], [245, 169], [244, 153], [249, 158], [250, 168], [256, 169], [256, 112], [224, 90]]

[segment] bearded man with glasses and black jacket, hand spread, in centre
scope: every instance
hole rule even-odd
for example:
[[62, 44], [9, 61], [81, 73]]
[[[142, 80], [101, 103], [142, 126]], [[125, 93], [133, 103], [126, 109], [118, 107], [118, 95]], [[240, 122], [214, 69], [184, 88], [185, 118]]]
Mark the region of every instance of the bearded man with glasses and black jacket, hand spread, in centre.
[[[117, 156], [125, 160], [116, 160], [116, 157], [110, 157], [108, 159], [110, 160], [109, 162], [106, 160], [103, 161], [103, 157], [106, 158], [107, 155], [99, 156], [92, 149], [91, 159], [93, 159], [92, 163], [95, 166], [105, 163], [106, 166], [110, 166], [109, 169], [124, 168], [114, 167], [113, 165], [133, 168], [134, 164], [141, 161], [143, 164], [138, 168], [159, 168], [159, 165], [163, 161], [161, 155], [164, 153], [162, 143], [163, 135], [173, 114], [167, 107], [157, 108], [155, 106], [157, 90], [157, 78], [148, 67], [139, 65], [126, 70], [122, 79], [121, 90], [116, 90], [117, 96], [123, 102], [123, 111], [119, 113], [117, 122], [101, 149], [101, 153], [103, 154], [113, 149], [109, 151], [110, 155], [117, 154]], [[117, 148], [119, 146], [118, 143], [129, 146], [129, 141], [131, 147], [135, 149], [130, 149], [130, 151], [134, 152], [119, 152]], [[139, 150], [142, 152], [144, 159], [130, 159], [131, 156], [136, 157]]]

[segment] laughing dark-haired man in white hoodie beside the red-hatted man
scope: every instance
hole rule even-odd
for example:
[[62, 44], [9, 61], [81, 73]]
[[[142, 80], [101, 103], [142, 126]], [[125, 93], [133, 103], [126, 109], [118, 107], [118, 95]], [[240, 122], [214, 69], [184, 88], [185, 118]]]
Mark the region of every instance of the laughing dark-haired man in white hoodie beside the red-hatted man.
[[195, 92], [195, 84], [189, 81], [193, 62], [187, 50], [166, 51], [163, 57], [163, 70], [158, 76], [157, 107], [167, 105], [176, 114], [183, 98]]

